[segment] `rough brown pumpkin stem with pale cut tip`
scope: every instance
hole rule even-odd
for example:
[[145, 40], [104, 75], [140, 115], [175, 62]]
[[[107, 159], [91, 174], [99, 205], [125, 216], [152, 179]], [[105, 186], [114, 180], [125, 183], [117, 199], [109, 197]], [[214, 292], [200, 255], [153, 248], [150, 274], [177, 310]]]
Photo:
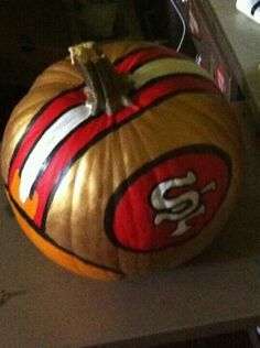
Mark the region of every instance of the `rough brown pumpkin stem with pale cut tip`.
[[83, 43], [68, 48], [72, 64], [80, 69], [86, 87], [86, 105], [90, 115], [99, 112], [113, 115], [129, 106], [129, 91], [132, 84], [128, 76], [118, 74], [111, 62], [94, 42]]

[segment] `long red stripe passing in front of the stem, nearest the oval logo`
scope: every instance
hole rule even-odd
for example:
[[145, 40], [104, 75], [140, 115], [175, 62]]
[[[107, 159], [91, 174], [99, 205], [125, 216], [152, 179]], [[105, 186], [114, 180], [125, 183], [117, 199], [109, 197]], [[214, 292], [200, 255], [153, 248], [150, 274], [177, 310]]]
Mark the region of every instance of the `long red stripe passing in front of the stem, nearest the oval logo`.
[[36, 185], [40, 199], [34, 222], [41, 227], [48, 197], [57, 178], [82, 149], [86, 148], [87, 151], [88, 146], [94, 145], [107, 132], [117, 129], [126, 121], [130, 121], [140, 112], [142, 113], [143, 109], [160, 101], [161, 98], [191, 90], [219, 94], [219, 90], [210, 80], [191, 76], [167, 77], [147, 88], [141, 88], [133, 97], [132, 106], [124, 108], [112, 117], [102, 115], [94, 118], [89, 123], [77, 129], [54, 154]]

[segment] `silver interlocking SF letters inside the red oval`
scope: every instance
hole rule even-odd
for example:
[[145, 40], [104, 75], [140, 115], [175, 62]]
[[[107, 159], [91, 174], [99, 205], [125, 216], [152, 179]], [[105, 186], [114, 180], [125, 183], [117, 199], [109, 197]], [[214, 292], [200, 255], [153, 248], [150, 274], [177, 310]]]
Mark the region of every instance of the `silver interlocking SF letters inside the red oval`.
[[[183, 177], [175, 177], [161, 182], [151, 194], [151, 205], [155, 210], [154, 224], [158, 226], [164, 220], [176, 222], [176, 229], [170, 237], [184, 235], [191, 226], [188, 220], [204, 214], [206, 208], [202, 203], [202, 196], [216, 189], [216, 183], [210, 182], [201, 191], [188, 189], [197, 182], [196, 175], [188, 171]], [[167, 193], [174, 188], [186, 188], [184, 193], [170, 198]]]

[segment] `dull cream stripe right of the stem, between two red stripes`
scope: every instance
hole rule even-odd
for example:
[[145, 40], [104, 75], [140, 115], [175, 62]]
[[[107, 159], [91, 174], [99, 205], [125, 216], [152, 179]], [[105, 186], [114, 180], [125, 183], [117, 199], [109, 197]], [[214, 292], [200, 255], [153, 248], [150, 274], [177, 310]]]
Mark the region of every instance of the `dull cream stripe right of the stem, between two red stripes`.
[[138, 68], [131, 79], [136, 88], [140, 88], [151, 79], [171, 74], [196, 74], [207, 79], [212, 79], [209, 74], [197, 66], [194, 62], [177, 58], [160, 58], [149, 62]]

